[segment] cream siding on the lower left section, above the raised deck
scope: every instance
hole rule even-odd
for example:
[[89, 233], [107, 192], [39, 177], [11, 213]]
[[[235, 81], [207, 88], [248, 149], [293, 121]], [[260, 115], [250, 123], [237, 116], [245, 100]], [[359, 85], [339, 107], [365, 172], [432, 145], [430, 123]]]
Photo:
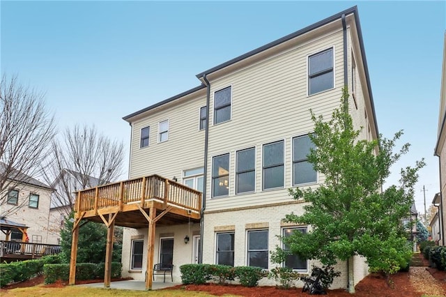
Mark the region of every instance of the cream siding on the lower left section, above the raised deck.
[[[206, 90], [132, 123], [130, 178], [159, 174], [180, 181], [183, 170], [203, 167], [205, 131], [199, 130], [199, 109], [205, 105]], [[169, 140], [157, 143], [158, 123], [166, 119]], [[148, 125], [150, 144], [139, 148], [141, 128]]]

